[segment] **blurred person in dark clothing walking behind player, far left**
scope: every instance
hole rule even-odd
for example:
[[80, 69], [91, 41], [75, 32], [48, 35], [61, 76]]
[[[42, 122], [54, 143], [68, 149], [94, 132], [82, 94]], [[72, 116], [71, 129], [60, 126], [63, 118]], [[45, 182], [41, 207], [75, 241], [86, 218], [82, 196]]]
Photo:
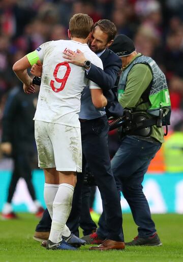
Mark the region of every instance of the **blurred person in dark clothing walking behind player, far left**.
[[27, 96], [23, 89], [14, 88], [7, 99], [3, 114], [3, 133], [1, 150], [14, 160], [7, 202], [2, 211], [4, 219], [17, 218], [11, 205], [19, 178], [23, 178], [36, 207], [36, 216], [41, 217], [44, 209], [36, 199], [32, 183], [32, 169], [36, 155], [34, 121], [37, 94]]

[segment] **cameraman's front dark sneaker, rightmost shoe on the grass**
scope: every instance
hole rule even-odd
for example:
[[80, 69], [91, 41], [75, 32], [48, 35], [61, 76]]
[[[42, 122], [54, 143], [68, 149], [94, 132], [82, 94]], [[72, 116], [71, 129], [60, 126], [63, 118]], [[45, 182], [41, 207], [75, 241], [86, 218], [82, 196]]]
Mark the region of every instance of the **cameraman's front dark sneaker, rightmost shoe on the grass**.
[[158, 234], [155, 233], [153, 236], [149, 238], [140, 238], [137, 236], [131, 242], [125, 243], [125, 245], [126, 246], [162, 246], [162, 243], [160, 241], [160, 238], [158, 237]]

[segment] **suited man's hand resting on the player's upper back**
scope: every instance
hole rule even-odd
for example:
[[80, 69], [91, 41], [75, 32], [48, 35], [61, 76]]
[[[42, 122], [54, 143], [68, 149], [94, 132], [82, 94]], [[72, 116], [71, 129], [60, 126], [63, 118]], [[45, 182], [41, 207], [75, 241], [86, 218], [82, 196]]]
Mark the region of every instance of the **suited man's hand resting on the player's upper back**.
[[77, 66], [84, 66], [84, 62], [86, 61], [86, 57], [84, 53], [82, 53], [79, 49], [77, 49], [77, 53], [73, 52], [70, 49], [67, 49], [67, 52], [63, 52], [63, 57], [67, 59], [67, 63], [72, 63]]

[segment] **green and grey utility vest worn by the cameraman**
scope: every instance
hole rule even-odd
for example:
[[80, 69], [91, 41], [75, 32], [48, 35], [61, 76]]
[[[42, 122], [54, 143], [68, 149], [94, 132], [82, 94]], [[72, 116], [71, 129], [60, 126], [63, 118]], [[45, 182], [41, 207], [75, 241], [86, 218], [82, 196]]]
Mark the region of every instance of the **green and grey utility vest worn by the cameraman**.
[[137, 56], [137, 58], [121, 73], [118, 84], [118, 100], [121, 96], [123, 96], [127, 84], [128, 74], [132, 67], [136, 64], [148, 65], [153, 73], [153, 80], [147, 88], [147, 98], [144, 99], [143, 94], [141, 96], [143, 101], [146, 100], [143, 103], [146, 103], [147, 101], [150, 103], [150, 106], [147, 108], [146, 112], [158, 117], [160, 108], [162, 108], [163, 125], [170, 125], [171, 104], [166, 77], [151, 57], [144, 55]]

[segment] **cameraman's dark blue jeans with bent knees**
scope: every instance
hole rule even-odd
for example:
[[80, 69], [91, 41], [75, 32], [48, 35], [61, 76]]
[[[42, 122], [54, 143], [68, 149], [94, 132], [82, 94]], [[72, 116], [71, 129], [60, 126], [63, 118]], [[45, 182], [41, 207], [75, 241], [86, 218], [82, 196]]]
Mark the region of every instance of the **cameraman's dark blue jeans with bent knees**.
[[[161, 148], [161, 143], [141, 140], [136, 136], [126, 136], [111, 161], [118, 193], [122, 191], [129, 203], [133, 219], [138, 226], [138, 236], [147, 238], [155, 232], [146, 197], [142, 191], [144, 174]], [[106, 236], [105, 215], [101, 215], [97, 230], [101, 238]]]

